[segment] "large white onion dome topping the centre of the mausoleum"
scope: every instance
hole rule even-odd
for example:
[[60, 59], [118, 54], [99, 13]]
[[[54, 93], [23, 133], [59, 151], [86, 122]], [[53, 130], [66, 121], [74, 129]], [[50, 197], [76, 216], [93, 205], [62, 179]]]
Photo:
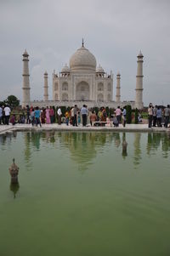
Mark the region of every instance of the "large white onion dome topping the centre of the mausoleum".
[[96, 70], [96, 59], [82, 44], [82, 48], [77, 49], [76, 53], [71, 56], [71, 71], [77, 70]]

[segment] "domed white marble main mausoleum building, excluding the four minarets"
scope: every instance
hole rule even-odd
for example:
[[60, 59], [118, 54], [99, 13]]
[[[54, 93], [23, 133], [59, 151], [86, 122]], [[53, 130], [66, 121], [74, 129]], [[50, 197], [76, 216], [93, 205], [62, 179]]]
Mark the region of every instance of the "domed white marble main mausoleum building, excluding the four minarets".
[[59, 74], [53, 74], [53, 100], [110, 102], [113, 95], [113, 76], [107, 75], [96, 59], [84, 47], [71, 56]]

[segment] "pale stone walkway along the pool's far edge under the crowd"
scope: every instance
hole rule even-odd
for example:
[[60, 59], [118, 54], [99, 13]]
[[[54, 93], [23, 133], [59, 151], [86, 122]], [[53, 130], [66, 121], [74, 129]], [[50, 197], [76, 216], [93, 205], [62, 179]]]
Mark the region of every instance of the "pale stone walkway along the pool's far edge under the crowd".
[[66, 126], [65, 124], [42, 124], [40, 127], [32, 127], [31, 124], [16, 124], [16, 125], [0, 125], [0, 134], [5, 134], [12, 131], [31, 131], [31, 130], [56, 130], [56, 131], [119, 131], [119, 132], [170, 132], [170, 128], [148, 128], [148, 124], [127, 124], [123, 128], [122, 124], [118, 128], [105, 126], [105, 127], [73, 127]]

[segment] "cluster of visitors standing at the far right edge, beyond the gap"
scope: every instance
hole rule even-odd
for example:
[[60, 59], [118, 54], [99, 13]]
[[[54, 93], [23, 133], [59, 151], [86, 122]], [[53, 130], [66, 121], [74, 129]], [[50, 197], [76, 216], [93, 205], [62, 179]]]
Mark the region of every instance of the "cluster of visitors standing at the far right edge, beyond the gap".
[[150, 103], [148, 108], [148, 127], [165, 127], [167, 128], [170, 119], [170, 106], [162, 108]]

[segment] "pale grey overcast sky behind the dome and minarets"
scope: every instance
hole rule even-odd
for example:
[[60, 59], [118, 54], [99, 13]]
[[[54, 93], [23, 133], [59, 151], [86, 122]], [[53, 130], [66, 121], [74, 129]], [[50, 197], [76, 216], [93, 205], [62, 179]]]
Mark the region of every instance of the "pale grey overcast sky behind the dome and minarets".
[[144, 55], [144, 105], [170, 103], [169, 0], [0, 0], [0, 100], [22, 100], [22, 54], [30, 55], [31, 100], [43, 99], [43, 74], [69, 64], [82, 46], [121, 73], [121, 100], [135, 99], [137, 55]]

